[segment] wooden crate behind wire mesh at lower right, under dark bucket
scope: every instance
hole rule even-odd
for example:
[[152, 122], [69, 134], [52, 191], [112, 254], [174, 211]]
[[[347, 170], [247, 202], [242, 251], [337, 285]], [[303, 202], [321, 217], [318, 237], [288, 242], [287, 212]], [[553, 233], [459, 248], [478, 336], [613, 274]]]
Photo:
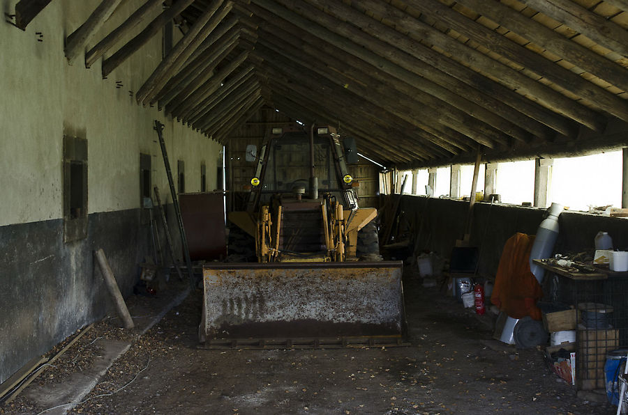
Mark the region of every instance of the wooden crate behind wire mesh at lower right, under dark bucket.
[[578, 389], [604, 389], [606, 354], [619, 345], [617, 329], [587, 329], [578, 324], [576, 331], [576, 382]]

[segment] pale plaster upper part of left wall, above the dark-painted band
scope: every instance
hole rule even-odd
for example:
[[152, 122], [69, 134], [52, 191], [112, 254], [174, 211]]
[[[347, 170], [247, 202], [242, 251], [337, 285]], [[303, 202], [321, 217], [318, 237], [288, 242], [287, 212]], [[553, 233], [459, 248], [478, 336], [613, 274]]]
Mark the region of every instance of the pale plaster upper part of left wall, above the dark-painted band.
[[[142, 2], [124, 1], [88, 48]], [[17, 0], [5, 1], [3, 11], [13, 13], [15, 3]], [[98, 3], [100, 0], [52, 1], [26, 31], [0, 23], [0, 226], [62, 217], [63, 134], [87, 138], [89, 213], [140, 206], [140, 152], [154, 156], [153, 185], [160, 187], [164, 202], [170, 200], [153, 130], [156, 119], [166, 126], [173, 173], [177, 172], [177, 159], [186, 162], [186, 191], [200, 190], [203, 161], [207, 187], [215, 187], [221, 146], [165, 119], [163, 111], [141, 107], [130, 96], [129, 91], [137, 91], [160, 61], [160, 33], [107, 79], [101, 77], [100, 61], [90, 69], [84, 67], [83, 56], [68, 64], [63, 40]], [[137, 26], [130, 36], [142, 29]], [[43, 42], [37, 41], [36, 32], [43, 33]], [[116, 88], [116, 81], [123, 86]]]

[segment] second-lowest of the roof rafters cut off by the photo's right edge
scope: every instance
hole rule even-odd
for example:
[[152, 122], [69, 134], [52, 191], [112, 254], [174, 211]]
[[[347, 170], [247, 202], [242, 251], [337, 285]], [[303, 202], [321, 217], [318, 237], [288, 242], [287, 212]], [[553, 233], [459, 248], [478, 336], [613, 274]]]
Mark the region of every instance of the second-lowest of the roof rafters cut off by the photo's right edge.
[[460, 0], [458, 3], [514, 31], [530, 42], [544, 47], [565, 61], [578, 66], [578, 68], [604, 79], [622, 91], [628, 91], [628, 77], [625, 68], [586, 47], [578, 45], [543, 24], [525, 17], [516, 10], [498, 1], [488, 3], [484, 0]]

